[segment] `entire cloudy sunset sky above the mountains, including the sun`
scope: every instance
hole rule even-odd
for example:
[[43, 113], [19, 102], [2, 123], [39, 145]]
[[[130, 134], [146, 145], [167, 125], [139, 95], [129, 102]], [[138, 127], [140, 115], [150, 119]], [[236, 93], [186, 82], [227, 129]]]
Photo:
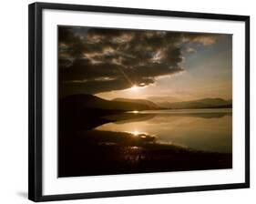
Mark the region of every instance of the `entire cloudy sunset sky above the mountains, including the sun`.
[[59, 97], [232, 97], [232, 36], [58, 26]]

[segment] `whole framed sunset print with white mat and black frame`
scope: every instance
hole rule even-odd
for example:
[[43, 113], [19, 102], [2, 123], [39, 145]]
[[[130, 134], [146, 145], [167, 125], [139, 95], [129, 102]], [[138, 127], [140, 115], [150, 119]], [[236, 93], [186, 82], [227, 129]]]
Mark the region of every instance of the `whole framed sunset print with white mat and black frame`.
[[29, 5], [29, 199], [250, 187], [250, 17]]

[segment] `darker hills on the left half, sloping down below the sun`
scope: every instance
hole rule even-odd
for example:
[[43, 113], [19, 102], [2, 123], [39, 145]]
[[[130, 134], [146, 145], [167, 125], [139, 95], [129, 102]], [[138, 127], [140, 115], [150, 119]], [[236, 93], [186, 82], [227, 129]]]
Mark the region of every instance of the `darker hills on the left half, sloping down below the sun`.
[[155, 108], [152, 102], [142, 103], [139, 101], [125, 101], [125, 100], [106, 100], [100, 97], [95, 97], [93, 95], [73, 95], [65, 97], [60, 100], [60, 106], [67, 109], [102, 109], [102, 110], [148, 110]]

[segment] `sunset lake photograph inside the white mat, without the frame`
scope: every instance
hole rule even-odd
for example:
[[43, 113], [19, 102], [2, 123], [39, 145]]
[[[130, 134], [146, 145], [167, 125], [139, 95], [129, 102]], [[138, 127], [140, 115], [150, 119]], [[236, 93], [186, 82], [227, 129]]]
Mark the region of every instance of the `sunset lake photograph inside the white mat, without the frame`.
[[57, 175], [232, 168], [232, 35], [57, 26]]

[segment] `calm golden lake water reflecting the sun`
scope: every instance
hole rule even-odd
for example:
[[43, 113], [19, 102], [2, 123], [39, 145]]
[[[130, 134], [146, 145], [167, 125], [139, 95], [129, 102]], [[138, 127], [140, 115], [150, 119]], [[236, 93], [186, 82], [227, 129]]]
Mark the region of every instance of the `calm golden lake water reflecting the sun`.
[[232, 152], [230, 108], [132, 111], [130, 114], [142, 117], [107, 123], [96, 129], [128, 132], [135, 137], [147, 134], [156, 137], [159, 143], [197, 150]]

